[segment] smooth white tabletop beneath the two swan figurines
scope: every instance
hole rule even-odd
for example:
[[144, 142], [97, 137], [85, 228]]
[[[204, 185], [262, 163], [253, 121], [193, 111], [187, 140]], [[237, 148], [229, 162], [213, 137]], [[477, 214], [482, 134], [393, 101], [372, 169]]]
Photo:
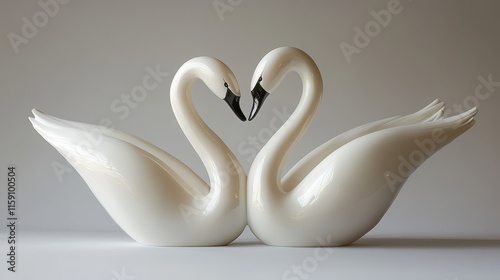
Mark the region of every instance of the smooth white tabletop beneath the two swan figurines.
[[167, 248], [121, 232], [20, 232], [16, 270], [3, 264], [1, 279], [498, 279], [500, 240], [366, 235], [285, 248], [247, 229], [229, 246]]

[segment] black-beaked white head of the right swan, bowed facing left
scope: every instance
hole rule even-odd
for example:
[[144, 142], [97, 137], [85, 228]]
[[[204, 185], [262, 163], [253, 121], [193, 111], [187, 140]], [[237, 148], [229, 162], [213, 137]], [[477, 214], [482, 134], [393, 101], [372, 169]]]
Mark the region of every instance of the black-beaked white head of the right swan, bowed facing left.
[[257, 115], [269, 93], [278, 87], [288, 72], [301, 70], [301, 62], [314, 64], [309, 55], [294, 47], [276, 48], [260, 60], [251, 82], [253, 105], [248, 120]]

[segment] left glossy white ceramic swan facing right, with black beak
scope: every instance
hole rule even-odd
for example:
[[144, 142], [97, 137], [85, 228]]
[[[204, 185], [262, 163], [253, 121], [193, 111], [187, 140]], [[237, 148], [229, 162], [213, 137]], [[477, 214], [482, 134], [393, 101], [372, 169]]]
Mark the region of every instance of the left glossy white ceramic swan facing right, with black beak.
[[[169, 153], [117, 130], [66, 121], [33, 110], [34, 128], [79, 172], [113, 220], [137, 242], [157, 246], [226, 245], [246, 226], [246, 174], [200, 118], [191, 85], [202, 80], [234, 113], [240, 89], [231, 70], [210, 57], [183, 64], [170, 88], [184, 134], [210, 177], [207, 185]], [[98, 143], [82, 146], [91, 133]]]

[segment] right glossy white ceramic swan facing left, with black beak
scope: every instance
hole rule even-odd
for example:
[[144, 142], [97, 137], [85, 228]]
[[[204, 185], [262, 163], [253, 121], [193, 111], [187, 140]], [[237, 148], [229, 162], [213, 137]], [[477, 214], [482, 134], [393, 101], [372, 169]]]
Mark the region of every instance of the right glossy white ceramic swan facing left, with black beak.
[[282, 178], [283, 163], [318, 106], [322, 78], [307, 54], [290, 47], [264, 56], [252, 78], [249, 119], [292, 71], [302, 79], [302, 97], [248, 174], [248, 224], [269, 245], [352, 243], [380, 221], [420, 164], [474, 124], [475, 108], [443, 119], [442, 103], [435, 101], [415, 114], [376, 121], [333, 138]]

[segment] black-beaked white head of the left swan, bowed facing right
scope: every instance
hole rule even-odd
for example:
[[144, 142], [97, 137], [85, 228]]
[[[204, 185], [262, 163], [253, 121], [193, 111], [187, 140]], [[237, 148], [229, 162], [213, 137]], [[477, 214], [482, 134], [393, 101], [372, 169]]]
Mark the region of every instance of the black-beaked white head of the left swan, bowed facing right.
[[[226, 101], [240, 120], [247, 120], [240, 107], [241, 94], [238, 81], [233, 71], [224, 62], [209, 56], [195, 57], [179, 68], [178, 73], [186, 72], [190, 72], [193, 78], [196, 77], [202, 80], [217, 97]], [[176, 76], [181, 77], [183, 75]]]

